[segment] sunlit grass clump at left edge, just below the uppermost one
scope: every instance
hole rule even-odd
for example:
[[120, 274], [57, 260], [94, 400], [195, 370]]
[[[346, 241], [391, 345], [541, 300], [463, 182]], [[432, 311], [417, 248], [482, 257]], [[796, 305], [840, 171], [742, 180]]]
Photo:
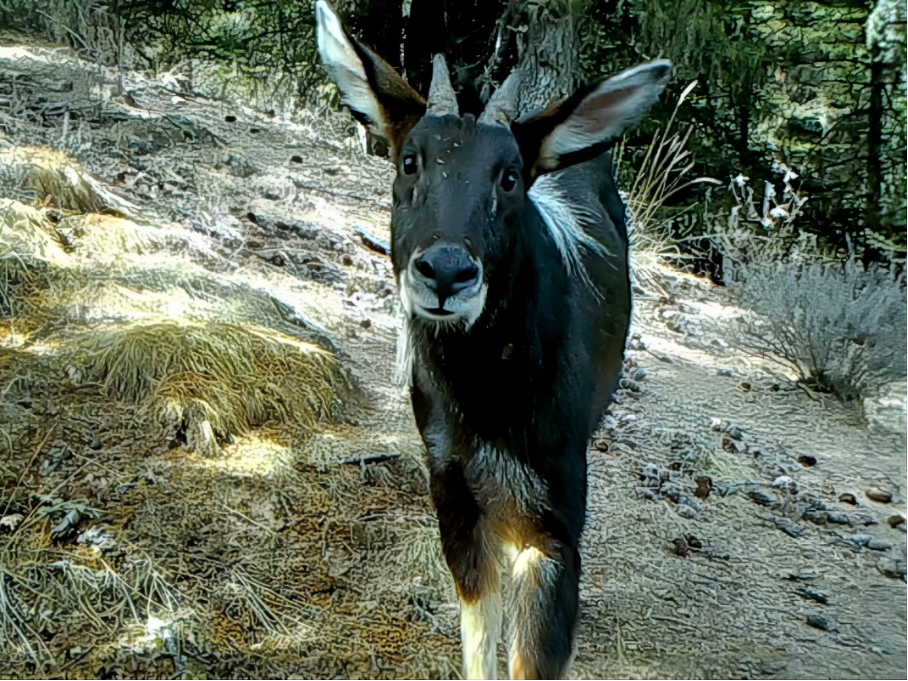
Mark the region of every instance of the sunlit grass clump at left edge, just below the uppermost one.
[[67, 265], [69, 256], [41, 211], [0, 199], [0, 319], [34, 313], [54, 269]]

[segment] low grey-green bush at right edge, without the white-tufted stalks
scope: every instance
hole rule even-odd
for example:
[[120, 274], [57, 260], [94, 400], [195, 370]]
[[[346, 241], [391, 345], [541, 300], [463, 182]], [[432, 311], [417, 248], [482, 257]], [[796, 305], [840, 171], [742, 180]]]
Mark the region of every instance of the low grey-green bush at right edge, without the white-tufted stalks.
[[744, 350], [846, 400], [905, 378], [904, 271], [851, 258], [751, 262], [735, 276], [731, 290], [755, 313], [739, 321]]

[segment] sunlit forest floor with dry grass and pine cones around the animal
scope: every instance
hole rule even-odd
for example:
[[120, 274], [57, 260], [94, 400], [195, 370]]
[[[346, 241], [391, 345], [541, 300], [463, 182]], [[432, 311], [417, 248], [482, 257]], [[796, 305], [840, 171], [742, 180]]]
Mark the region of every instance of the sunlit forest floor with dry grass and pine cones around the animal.
[[[0, 297], [0, 677], [456, 678], [391, 382], [392, 169], [345, 115], [216, 95], [0, 40], [0, 256], [25, 267]], [[88, 199], [45, 200], [51, 162]], [[904, 384], [794, 387], [729, 342], [727, 291], [655, 276], [588, 455], [572, 675], [904, 677]], [[194, 374], [160, 360], [184, 350]], [[204, 393], [220, 352], [242, 381]]]

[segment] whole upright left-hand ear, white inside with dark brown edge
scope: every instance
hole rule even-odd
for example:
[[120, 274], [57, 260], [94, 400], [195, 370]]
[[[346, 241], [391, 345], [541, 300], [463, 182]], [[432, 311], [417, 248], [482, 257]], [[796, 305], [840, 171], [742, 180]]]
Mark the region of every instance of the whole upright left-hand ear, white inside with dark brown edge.
[[325, 0], [315, 5], [318, 51], [353, 117], [384, 137], [395, 155], [426, 102], [388, 63], [350, 36]]

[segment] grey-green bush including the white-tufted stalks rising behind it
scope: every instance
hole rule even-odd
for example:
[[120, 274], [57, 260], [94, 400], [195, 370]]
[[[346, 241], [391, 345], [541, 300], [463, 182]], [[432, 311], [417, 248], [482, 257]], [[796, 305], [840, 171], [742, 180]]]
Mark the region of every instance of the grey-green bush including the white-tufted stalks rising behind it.
[[764, 182], [759, 207], [748, 178], [733, 179], [735, 206], [714, 235], [729, 289], [753, 312], [739, 319], [735, 340], [809, 387], [873, 396], [906, 376], [904, 267], [835, 259], [799, 232], [807, 198], [792, 184], [796, 173], [780, 172], [784, 189]]

